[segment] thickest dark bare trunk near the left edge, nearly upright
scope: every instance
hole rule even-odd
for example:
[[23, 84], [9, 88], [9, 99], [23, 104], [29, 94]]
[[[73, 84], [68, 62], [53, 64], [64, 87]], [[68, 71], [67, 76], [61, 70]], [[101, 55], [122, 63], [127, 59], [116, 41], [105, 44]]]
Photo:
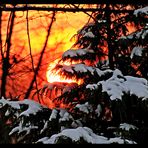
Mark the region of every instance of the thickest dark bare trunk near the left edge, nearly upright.
[[[1, 96], [6, 97], [6, 84], [7, 84], [7, 76], [9, 74], [10, 65], [10, 48], [11, 48], [11, 37], [14, 27], [14, 19], [15, 19], [15, 11], [10, 14], [10, 25], [8, 25], [8, 34], [6, 38], [6, 50], [5, 55], [2, 59], [2, 84], [1, 84]], [[8, 23], [9, 24], [9, 23]]]

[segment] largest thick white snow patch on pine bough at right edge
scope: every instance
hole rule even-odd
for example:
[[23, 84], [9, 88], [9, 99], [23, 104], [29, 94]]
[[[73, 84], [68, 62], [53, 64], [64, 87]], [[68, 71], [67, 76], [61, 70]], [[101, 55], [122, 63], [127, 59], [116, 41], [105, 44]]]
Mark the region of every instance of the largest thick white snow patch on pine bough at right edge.
[[[113, 72], [111, 78], [106, 81], [100, 81], [97, 85], [102, 86], [102, 92], [107, 92], [111, 100], [122, 99], [124, 93], [148, 99], [148, 81], [144, 78], [123, 76], [118, 69]], [[97, 89], [97, 85], [89, 84], [86, 88]]]

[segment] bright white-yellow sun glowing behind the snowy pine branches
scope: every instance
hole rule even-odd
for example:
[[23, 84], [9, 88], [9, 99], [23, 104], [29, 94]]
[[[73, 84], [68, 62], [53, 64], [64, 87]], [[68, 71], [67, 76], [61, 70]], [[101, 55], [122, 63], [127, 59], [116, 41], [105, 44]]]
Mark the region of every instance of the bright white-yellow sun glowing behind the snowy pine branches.
[[[78, 85], [83, 83], [83, 79], [77, 80], [75, 77], [66, 78], [66, 76], [61, 76], [59, 74], [59, 70], [57, 70], [57, 71], [53, 70], [58, 63], [59, 63], [59, 59], [57, 59], [54, 62], [50, 63], [50, 65], [48, 67], [46, 77], [47, 77], [47, 81], [49, 83], [63, 82], [63, 83], [77, 83]], [[65, 61], [65, 62], [62, 62], [62, 65], [67, 65], [68, 66], [68, 65], [77, 64], [77, 63], [78, 62]]]

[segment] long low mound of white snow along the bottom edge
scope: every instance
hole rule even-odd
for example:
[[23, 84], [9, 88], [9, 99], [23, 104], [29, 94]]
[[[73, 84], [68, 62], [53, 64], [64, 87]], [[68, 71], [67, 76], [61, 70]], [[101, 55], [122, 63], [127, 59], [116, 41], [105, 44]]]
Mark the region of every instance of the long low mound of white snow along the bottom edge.
[[56, 144], [58, 138], [61, 136], [68, 137], [73, 142], [77, 142], [80, 140], [80, 138], [83, 138], [87, 143], [90, 143], [90, 144], [111, 144], [111, 143], [124, 144], [125, 142], [128, 144], [135, 143], [133, 141], [129, 141], [126, 139], [123, 140], [120, 137], [108, 139], [106, 137], [96, 135], [88, 127], [78, 127], [76, 129], [65, 129], [61, 133], [55, 134], [50, 138], [44, 137], [38, 140], [37, 143], [41, 142], [43, 144]]

